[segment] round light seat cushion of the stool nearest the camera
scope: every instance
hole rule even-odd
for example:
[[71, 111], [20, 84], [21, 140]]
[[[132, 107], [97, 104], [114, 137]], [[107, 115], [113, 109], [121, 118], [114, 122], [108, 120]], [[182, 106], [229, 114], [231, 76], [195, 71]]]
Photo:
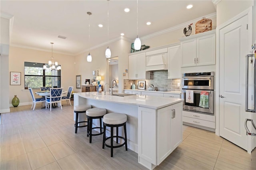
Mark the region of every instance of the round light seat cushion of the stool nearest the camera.
[[108, 125], [119, 125], [127, 121], [126, 114], [108, 113], [104, 115], [103, 122]]

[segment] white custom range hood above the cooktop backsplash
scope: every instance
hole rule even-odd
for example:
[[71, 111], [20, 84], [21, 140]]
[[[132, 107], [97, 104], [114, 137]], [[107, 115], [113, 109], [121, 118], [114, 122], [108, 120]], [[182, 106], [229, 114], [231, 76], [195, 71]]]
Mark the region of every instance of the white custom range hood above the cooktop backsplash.
[[146, 52], [146, 71], [167, 70], [168, 48]]

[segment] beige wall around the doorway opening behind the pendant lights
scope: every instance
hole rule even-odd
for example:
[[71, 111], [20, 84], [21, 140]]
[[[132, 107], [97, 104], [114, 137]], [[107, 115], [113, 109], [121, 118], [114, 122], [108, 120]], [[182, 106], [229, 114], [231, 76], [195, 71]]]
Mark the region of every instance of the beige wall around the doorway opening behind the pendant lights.
[[[104, 90], [105, 83], [109, 82], [109, 68], [108, 68], [108, 59], [105, 57], [105, 51], [107, 46], [109, 46], [111, 50], [111, 57], [118, 57], [118, 77], [119, 77], [119, 86], [121, 86], [122, 91], [122, 83], [120, 81], [125, 77], [128, 79], [128, 74], [126, 76], [122, 76], [122, 73], [125, 71], [124, 68], [128, 69], [128, 53], [130, 53], [131, 42], [127, 42], [126, 40], [118, 40], [116, 42], [112, 42], [109, 45], [98, 47], [96, 49], [91, 49], [90, 54], [92, 55], [92, 62], [87, 62], [86, 57], [88, 55], [88, 51], [75, 57], [75, 74], [82, 75], [82, 84], [85, 79], [92, 79], [92, 71], [96, 69], [100, 69], [101, 81], [100, 84]], [[121, 80], [120, 80], [121, 75]], [[81, 89], [74, 88], [74, 91], [81, 92]]]

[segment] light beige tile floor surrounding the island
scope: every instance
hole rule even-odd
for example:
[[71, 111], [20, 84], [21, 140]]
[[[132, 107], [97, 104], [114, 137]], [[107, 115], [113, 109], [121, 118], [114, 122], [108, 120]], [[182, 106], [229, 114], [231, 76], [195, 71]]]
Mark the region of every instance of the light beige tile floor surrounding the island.
[[[40, 109], [11, 107], [1, 114], [1, 170], [140, 170], [138, 154], [125, 148], [102, 149], [102, 135], [74, 133], [73, 106]], [[253, 170], [250, 155], [214, 132], [183, 126], [183, 142], [155, 170]]]

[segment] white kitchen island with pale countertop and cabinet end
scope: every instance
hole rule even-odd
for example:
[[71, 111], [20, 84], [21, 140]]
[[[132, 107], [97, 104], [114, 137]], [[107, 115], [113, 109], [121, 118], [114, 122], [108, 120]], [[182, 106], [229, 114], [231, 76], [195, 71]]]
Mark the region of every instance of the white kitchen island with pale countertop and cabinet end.
[[[87, 104], [105, 108], [107, 113], [127, 115], [128, 148], [138, 153], [138, 162], [148, 169], [154, 169], [182, 142], [182, 102], [147, 95], [74, 93], [74, 106]], [[79, 119], [84, 120], [85, 115], [80, 115]], [[106, 134], [110, 135], [109, 129]]]

